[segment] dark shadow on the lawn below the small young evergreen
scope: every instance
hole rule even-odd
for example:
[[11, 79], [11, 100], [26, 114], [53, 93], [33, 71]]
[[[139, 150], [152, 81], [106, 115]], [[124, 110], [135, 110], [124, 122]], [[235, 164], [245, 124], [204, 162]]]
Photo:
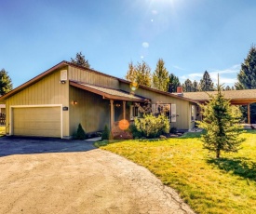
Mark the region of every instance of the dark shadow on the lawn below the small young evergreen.
[[220, 158], [209, 159], [208, 163], [215, 165], [226, 172], [233, 172], [244, 179], [256, 181], [256, 163], [249, 158]]

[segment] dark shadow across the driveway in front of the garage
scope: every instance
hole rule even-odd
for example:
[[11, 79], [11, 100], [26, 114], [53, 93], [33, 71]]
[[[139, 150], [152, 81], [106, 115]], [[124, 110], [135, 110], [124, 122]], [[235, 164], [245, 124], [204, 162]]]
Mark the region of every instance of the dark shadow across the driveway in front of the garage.
[[54, 138], [0, 138], [0, 157], [11, 154], [45, 154], [86, 152], [96, 149], [93, 141]]

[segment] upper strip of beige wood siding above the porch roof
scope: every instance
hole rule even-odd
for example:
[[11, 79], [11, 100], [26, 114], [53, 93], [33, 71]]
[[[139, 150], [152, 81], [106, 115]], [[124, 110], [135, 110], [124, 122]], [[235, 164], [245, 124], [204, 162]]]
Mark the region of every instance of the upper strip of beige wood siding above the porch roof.
[[84, 83], [95, 84], [101, 87], [119, 88], [119, 81], [111, 76], [99, 74], [90, 70], [69, 67], [69, 79]]

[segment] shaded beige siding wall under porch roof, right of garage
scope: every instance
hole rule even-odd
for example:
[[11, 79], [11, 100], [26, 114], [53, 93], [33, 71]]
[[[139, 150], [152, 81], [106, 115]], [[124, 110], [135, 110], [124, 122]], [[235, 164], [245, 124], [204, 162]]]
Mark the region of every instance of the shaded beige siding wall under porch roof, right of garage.
[[[74, 100], [77, 104], [74, 104]], [[76, 132], [78, 124], [86, 132], [103, 130], [110, 124], [110, 101], [86, 90], [70, 87], [70, 133]]]

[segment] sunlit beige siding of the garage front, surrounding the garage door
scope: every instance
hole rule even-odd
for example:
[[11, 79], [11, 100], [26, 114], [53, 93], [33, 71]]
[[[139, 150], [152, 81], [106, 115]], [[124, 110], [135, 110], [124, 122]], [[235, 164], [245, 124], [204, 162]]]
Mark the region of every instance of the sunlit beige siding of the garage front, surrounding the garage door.
[[[64, 69], [68, 70], [68, 67], [62, 68], [61, 70]], [[60, 83], [61, 70], [45, 76], [39, 82], [24, 88], [19, 93], [7, 99], [7, 133], [10, 132], [9, 127], [12, 126], [9, 115], [10, 106], [58, 104], [69, 107], [69, 83], [68, 81], [65, 84]], [[68, 111], [62, 112], [62, 122], [63, 137], [70, 136]]]

